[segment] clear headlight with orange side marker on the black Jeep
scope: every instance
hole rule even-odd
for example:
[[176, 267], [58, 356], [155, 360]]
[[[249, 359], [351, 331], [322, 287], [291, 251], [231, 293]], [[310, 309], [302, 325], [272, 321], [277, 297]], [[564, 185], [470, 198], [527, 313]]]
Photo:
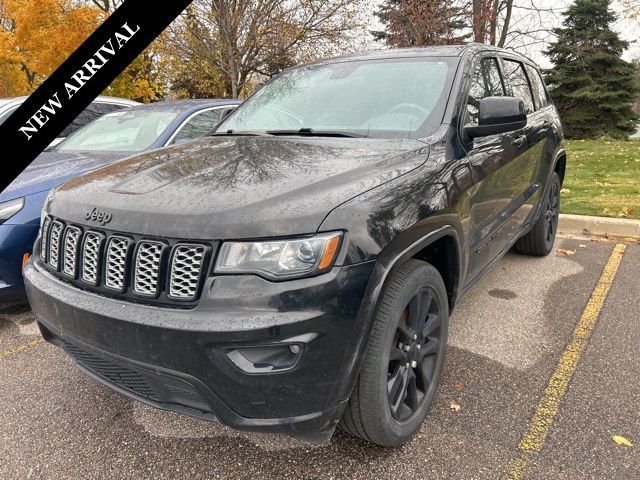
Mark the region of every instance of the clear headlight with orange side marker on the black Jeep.
[[216, 273], [255, 273], [274, 280], [323, 273], [333, 266], [342, 233], [266, 242], [223, 243]]

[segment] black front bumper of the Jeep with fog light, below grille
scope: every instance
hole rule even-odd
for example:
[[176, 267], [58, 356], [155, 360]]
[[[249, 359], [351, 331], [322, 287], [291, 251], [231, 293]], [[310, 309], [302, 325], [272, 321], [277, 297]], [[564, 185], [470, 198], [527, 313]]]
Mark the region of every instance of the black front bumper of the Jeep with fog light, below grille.
[[313, 439], [333, 432], [351, 392], [373, 267], [280, 283], [209, 278], [188, 310], [82, 291], [38, 261], [25, 284], [45, 339], [116, 390], [234, 428]]

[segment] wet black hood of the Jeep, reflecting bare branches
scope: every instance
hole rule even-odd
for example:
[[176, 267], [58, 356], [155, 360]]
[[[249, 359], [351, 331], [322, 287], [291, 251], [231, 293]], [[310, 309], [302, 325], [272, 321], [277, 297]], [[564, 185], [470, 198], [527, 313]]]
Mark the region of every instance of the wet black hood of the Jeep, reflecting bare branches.
[[[427, 157], [417, 140], [206, 137], [73, 179], [47, 208], [68, 221], [142, 235], [313, 233], [333, 208]], [[93, 209], [110, 214], [93, 216], [108, 225], [87, 220]]]

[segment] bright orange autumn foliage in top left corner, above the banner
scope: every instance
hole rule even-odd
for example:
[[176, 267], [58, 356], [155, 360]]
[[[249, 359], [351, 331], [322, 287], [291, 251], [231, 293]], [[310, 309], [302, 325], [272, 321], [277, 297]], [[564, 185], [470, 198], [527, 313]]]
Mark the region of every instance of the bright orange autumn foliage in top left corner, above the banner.
[[0, 0], [0, 97], [33, 92], [103, 19], [73, 0]]

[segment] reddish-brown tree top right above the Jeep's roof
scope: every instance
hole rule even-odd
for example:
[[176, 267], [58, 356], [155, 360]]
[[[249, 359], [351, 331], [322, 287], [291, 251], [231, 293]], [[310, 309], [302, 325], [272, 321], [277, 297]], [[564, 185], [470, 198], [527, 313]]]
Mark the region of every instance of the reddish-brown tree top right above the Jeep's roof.
[[377, 40], [393, 47], [452, 45], [470, 35], [460, 8], [443, 0], [385, 0], [375, 13], [384, 31], [371, 32]]

